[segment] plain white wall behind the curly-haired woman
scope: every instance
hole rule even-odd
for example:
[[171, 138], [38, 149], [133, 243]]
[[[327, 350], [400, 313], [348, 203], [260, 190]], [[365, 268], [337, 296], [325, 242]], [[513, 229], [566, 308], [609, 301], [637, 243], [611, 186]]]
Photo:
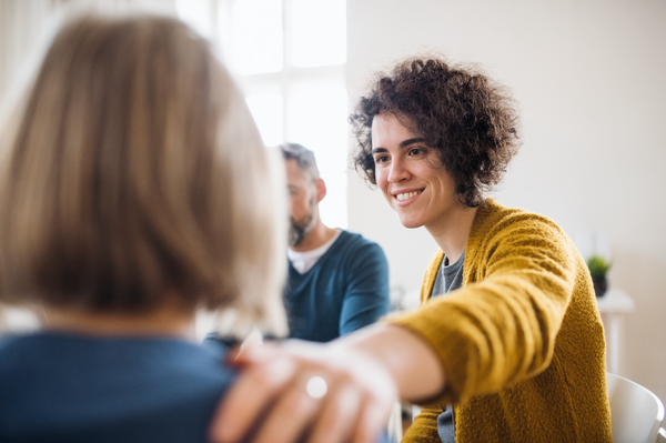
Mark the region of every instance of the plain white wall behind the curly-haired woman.
[[[514, 91], [524, 145], [494, 195], [572, 236], [607, 234], [610, 284], [636, 302], [620, 373], [666, 401], [666, 1], [353, 0], [347, 20], [352, 100], [420, 49], [480, 62]], [[350, 229], [384, 248], [392, 285], [416, 291], [436, 245], [355, 175]]]

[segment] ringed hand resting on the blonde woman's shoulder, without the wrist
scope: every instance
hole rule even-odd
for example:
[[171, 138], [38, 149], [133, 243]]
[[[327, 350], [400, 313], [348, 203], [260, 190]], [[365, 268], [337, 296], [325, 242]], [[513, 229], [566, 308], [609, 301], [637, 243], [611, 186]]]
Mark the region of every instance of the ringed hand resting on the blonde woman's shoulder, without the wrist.
[[293, 340], [248, 348], [235, 363], [242, 371], [212, 424], [215, 443], [374, 443], [396, 400], [387, 368], [353, 346]]

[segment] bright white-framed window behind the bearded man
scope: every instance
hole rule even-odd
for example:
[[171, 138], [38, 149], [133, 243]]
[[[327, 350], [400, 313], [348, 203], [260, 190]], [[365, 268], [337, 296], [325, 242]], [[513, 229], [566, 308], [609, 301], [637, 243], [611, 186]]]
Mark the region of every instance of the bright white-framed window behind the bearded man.
[[314, 151], [322, 220], [346, 228], [346, 1], [176, 0], [176, 11], [216, 44], [264, 143]]

